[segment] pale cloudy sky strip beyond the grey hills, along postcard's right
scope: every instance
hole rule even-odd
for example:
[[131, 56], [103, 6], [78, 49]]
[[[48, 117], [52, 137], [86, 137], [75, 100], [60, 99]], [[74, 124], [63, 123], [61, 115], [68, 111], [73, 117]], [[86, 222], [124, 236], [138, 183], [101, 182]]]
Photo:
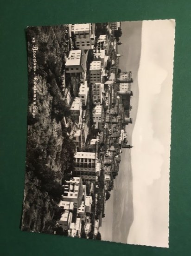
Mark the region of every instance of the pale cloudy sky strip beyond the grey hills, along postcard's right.
[[[172, 20], [143, 21], [139, 106], [131, 150], [134, 222], [127, 243], [168, 247], [174, 27]], [[166, 94], [164, 86], [171, 88]], [[161, 104], [166, 101], [164, 111]]]

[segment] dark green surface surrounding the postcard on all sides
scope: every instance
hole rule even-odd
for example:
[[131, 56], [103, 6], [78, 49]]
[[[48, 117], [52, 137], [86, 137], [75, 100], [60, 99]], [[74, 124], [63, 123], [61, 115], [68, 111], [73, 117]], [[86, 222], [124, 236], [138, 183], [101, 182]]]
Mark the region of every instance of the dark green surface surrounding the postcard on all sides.
[[[0, 1], [0, 254], [191, 255], [191, 1]], [[169, 249], [21, 232], [26, 113], [25, 27], [116, 20], [176, 19], [172, 101]]]

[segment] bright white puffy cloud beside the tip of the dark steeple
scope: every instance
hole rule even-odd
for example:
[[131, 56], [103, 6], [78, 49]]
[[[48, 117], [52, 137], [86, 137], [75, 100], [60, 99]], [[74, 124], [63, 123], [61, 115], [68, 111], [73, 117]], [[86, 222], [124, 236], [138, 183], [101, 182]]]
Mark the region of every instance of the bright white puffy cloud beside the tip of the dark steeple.
[[[134, 133], [138, 136], [132, 139], [134, 145], [132, 166], [136, 170], [134, 179], [139, 180], [141, 177], [141, 183], [151, 185], [154, 179], [160, 177], [164, 147], [157, 138], [153, 137], [152, 122], [148, 120], [148, 116], [146, 119], [146, 116], [143, 115], [139, 120], [134, 128]], [[146, 122], [146, 126], [143, 125], [144, 122]]]

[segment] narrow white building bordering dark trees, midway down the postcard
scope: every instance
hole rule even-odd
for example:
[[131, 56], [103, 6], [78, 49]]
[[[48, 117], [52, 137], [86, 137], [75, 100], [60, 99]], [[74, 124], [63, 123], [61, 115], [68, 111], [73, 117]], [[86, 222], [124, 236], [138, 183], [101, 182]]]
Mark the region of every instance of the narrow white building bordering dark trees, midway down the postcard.
[[82, 101], [80, 97], [76, 97], [70, 107], [72, 121], [82, 123]]

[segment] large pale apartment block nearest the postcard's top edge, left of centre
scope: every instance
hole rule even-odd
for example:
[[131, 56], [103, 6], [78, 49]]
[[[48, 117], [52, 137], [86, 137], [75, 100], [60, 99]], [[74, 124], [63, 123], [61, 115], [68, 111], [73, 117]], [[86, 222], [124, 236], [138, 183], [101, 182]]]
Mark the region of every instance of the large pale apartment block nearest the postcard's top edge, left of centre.
[[71, 26], [71, 31], [75, 34], [75, 45], [78, 49], [89, 50], [95, 44], [95, 24], [83, 23]]

